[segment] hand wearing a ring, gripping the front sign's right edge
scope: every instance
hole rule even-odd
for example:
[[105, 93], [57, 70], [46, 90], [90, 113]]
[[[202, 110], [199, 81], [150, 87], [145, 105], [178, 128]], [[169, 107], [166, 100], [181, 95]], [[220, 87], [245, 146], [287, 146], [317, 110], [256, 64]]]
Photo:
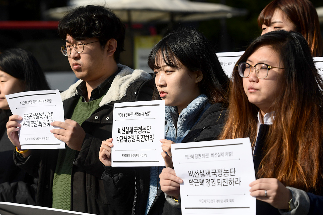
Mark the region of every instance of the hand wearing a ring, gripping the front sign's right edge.
[[250, 195], [257, 200], [265, 201], [277, 209], [289, 209], [288, 201], [292, 199], [292, 194], [278, 179], [257, 179], [249, 187]]

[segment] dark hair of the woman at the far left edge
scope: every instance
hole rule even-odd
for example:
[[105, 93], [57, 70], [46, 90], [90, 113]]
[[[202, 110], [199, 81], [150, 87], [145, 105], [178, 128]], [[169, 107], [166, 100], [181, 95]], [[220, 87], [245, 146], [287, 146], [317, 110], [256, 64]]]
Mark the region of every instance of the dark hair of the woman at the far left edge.
[[49, 90], [36, 58], [21, 48], [7, 49], [0, 54], [0, 70], [25, 83], [25, 91]]

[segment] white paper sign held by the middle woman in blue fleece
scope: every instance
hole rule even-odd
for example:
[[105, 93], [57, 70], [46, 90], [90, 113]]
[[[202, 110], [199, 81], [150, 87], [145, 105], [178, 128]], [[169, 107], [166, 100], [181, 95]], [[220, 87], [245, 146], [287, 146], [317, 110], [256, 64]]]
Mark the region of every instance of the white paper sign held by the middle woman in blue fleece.
[[113, 107], [112, 167], [162, 167], [165, 100], [116, 103]]

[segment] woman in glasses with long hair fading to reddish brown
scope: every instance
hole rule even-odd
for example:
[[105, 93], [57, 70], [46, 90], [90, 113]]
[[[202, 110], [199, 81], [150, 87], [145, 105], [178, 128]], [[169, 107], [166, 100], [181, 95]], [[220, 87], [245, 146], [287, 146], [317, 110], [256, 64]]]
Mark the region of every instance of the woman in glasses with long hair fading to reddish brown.
[[221, 139], [249, 137], [256, 214], [322, 214], [323, 83], [304, 37], [262, 35], [238, 60]]

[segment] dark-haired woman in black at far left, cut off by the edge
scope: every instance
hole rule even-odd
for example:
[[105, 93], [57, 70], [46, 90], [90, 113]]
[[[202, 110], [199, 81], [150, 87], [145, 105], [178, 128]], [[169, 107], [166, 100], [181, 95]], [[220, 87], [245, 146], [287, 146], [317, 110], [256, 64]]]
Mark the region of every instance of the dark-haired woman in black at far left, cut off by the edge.
[[15, 147], [6, 133], [6, 122], [12, 115], [5, 95], [49, 90], [36, 58], [20, 48], [0, 54], [0, 201], [34, 204], [36, 179], [18, 168], [13, 160]]

